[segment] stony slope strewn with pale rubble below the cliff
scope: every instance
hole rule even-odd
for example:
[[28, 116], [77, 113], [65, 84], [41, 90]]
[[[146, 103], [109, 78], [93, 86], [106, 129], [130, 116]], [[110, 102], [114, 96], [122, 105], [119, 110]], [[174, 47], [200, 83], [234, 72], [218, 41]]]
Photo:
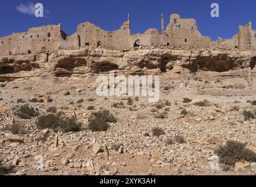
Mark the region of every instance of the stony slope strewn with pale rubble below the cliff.
[[[163, 104], [156, 106], [141, 96], [131, 97], [132, 105], [127, 104], [128, 96], [97, 96], [95, 78], [91, 75], [83, 79], [23, 78], [1, 83], [0, 158], [2, 168], [9, 169], [5, 174], [256, 174], [255, 163], [238, 163], [235, 167], [220, 165], [219, 170], [213, 170], [210, 161], [214, 150], [227, 140], [247, 143], [247, 148], [256, 152], [256, 120], [243, 117], [244, 110], [255, 111], [256, 106], [248, 102], [256, 100], [255, 79], [248, 84], [245, 79], [234, 77], [161, 75]], [[33, 98], [43, 101], [30, 102]], [[192, 102], [184, 103], [183, 98]], [[77, 103], [79, 99], [84, 101]], [[205, 99], [206, 106], [196, 105]], [[113, 106], [120, 102], [124, 105]], [[55, 106], [65, 116], [76, 116], [83, 123], [83, 129], [69, 133], [37, 129], [37, 117], [20, 119], [15, 115], [16, 108], [25, 104], [38, 110], [39, 116]], [[88, 106], [95, 109], [88, 110]], [[93, 132], [88, 129], [88, 118], [101, 108], [110, 110], [117, 123], [110, 123], [107, 131]], [[187, 113], [181, 115], [184, 109]], [[165, 111], [164, 119], [154, 117], [160, 111]], [[11, 134], [9, 127], [13, 123], [22, 126], [18, 134]], [[154, 127], [161, 128], [165, 134], [154, 136]], [[47, 131], [46, 140], [40, 140]], [[35, 168], [36, 155], [42, 155], [43, 169]]]

